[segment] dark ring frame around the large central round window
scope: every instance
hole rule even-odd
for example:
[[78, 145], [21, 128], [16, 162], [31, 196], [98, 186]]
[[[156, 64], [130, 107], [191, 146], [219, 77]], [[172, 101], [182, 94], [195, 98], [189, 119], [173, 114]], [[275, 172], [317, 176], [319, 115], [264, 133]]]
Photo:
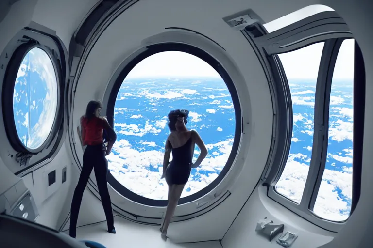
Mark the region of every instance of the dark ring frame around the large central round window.
[[[179, 205], [186, 204], [188, 202], [195, 201], [207, 195], [209, 192], [211, 192], [216, 186], [219, 185], [221, 180], [225, 178], [228, 171], [230, 171], [230, 168], [233, 166], [233, 162], [238, 153], [239, 143], [241, 139], [241, 132], [242, 132], [242, 113], [241, 113], [240, 102], [238, 99], [238, 93], [227, 71], [221, 66], [221, 64], [215, 58], [213, 58], [207, 52], [203, 51], [201, 48], [188, 45], [188, 44], [177, 43], [177, 42], [159, 43], [159, 44], [146, 46], [145, 48], [146, 50], [137, 54], [135, 58], [133, 58], [129, 63], [127, 63], [121, 69], [118, 77], [115, 79], [113, 87], [110, 90], [108, 102], [106, 104], [107, 106], [106, 117], [111, 126], [114, 126], [114, 111], [115, 111], [114, 107], [115, 107], [117, 95], [119, 93], [119, 89], [123, 83], [123, 80], [128, 75], [128, 73], [130, 73], [130, 71], [137, 65], [137, 63], [141, 62], [142, 60], [144, 60], [145, 58], [153, 54], [160, 53], [160, 52], [165, 52], [165, 51], [186, 52], [207, 62], [211, 67], [213, 67], [220, 74], [220, 77], [224, 80], [228, 88], [228, 91], [232, 97], [232, 102], [233, 102], [233, 106], [235, 109], [236, 124], [235, 124], [234, 141], [233, 141], [232, 150], [228, 157], [228, 160], [223, 170], [220, 171], [220, 174], [218, 175], [218, 177], [214, 181], [212, 181], [208, 186], [204, 187], [203, 189], [201, 189], [200, 191], [192, 195], [180, 198], [178, 204]], [[129, 190], [128, 188], [120, 184], [119, 181], [116, 180], [114, 176], [110, 173], [110, 171], [108, 173], [107, 181], [116, 191], [119, 192], [120, 195], [128, 198], [131, 201], [144, 204], [147, 206], [155, 206], [155, 207], [167, 206], [167, 200], [155, 200], [155, 199], [150, 199], [150, 198], [137, 195], [133, 191]]]

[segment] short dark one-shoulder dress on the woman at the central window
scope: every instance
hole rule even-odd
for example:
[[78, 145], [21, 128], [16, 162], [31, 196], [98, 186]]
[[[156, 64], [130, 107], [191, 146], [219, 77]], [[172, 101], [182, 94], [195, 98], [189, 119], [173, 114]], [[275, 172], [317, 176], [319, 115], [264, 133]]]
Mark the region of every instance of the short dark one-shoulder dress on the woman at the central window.
[[190, 176], [193, 158], [191, 153], [192, 137], [178, 148], [172, 148], [170, 141], [168, 142], [172, 151], [172, 161], [166, 169], [166, 183], [168, 185], [186, 184]]

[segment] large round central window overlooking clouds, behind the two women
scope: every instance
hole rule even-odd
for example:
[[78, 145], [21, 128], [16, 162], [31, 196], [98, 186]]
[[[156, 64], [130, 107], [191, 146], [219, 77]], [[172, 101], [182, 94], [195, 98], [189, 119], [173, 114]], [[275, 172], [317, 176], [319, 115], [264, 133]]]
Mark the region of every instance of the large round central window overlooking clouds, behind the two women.
[[[209, 151], [201, 166], [192, 169], [179, 203], [211, 191], [232, 165], [237, 153], [237, 109], [233, 104], [237, 93], [234, 90], [232, 96], [229, 77], [223, 74], [226, 78], [222, 78], [203, 59], [190, 50], [161, 51], [146, 56], [131, 70], [127, 67], [129, 73], [122, 75], [124, 80], [120, 79], [119, 90], [108, 106], [112, 111], [108, 118], [113, 119], [118, 138], [107, 156], [113, 177], [109, 183], [122, 195], [144, 204], [167, 204], [156, 201], [167, 200], [168, 186], [160, 178], [170, 134], [167, 115], [173, 109], [190, 111], [186, 126], [198, 131]], [[220, 65], [215, 61], [215, 66]], [[193, 161], [198, 155], [196, 146]]]

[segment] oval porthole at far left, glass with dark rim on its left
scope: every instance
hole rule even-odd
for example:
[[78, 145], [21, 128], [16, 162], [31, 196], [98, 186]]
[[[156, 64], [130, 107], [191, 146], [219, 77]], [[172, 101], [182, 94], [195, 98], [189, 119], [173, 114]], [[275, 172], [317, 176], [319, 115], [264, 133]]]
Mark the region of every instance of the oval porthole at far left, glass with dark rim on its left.
[[[19, 57], [20, 53], [22, 57]], [[15, 57], [6, 75], [6, 82], [13, 84], [6, 85], [8, 89], [3, 92], [3, 95], [13, 92], [13, 111], [8, 105], [10, 95], [3, 101], [5, 115], [14, 119], [14, 125], [6, 125], [8, 129], [13, 129], [7, 130], [7, 133], [16, 150], [38, 152], [46, 143], [56, 117], [57, 75], [50, 56], [40, 47], [21, 47]], [[9, 123], [9, 119], [5, 122]]]

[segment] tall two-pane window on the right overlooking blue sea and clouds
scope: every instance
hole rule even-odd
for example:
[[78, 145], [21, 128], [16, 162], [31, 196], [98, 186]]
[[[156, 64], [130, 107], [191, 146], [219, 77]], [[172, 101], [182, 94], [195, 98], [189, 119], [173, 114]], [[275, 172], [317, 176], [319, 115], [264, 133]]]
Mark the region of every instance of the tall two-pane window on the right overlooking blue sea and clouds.
[[[326, 155], [322, 156], [325, 160], [315, 160], [314, 164], [318, 166], [321, 162], [322, 167], [325, 164], [324, 170], [320, 171], [321, 184], [319, 190], [312, 193], [316, 195], [314, 204], [312, 199], [309, 200], [310, 202], [301, 202], [312, 149], [320, 145], [320, 140], [316, 143], [316, 139], [320, 139], [320, 132], [323, 132], [322, 129], [314, 129], [316, 128], [314, 127], [315, 98], [321, 97], [315, 93], [323, 46], [324, 43], [316, 43], [286, 54], [279, 54], [291, 92], [293, 133], [288, 160], [274, 190], [288, 200], [300, 204], [299, 207], [292, 208], [298, 214], [308, 210], [322, 219], [344, 221], [350, 216], [353, 187], [354, 39], [342, 42], [331, 81], [330, 99], [328, 102], [322, 102], [324, 110], [329, 109], [324, 117], [327, 118], [324, 119], [325, 126], [328, 128], [327, 132], [325, 130], [326, 137], [321, 136], [322, 139], [327, 140], [327, 143], [324, 143], [323, 150], [320, 150], [321, 154], [325, 154], [326, 150]], [[318, 90], [318, 93], [327, 100], [329, 96], [324, 96], [325, 90], [320, 92]], [[322, 97], [320, 99], [323, 99]], [[315, 143], [314, 131], [318, 132]], [[321, 156], [319, 152], [317, 154]], [[315, 176], [317, 172], [312, 173]], [[318, 183], [316, 179], [315, 183]], [[309, 186], [313, 187], [315, 184]], [[315, 188], [317, 190], [318, 187]], [[276, 199], [290, 207], [291, 203], [285, 199]], [[333, 229], [331, 225], [329, 228]]]

